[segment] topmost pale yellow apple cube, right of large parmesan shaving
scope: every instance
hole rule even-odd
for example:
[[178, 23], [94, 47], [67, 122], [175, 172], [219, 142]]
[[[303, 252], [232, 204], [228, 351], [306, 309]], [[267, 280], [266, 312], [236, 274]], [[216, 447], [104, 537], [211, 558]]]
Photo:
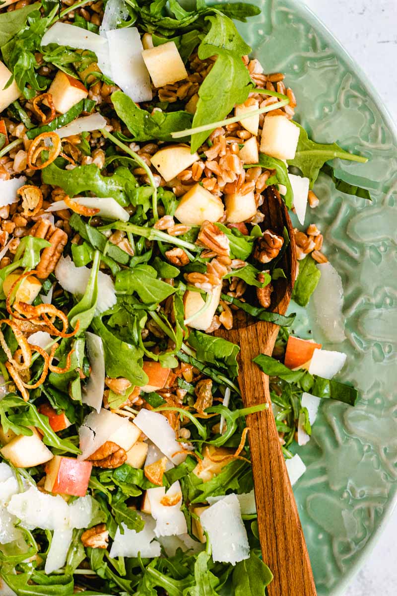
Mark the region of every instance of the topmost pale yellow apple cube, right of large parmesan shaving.
[[142, 58], [153, 85], [157, 88], [171, 85], [171, 83], [176, 83], [177, 80], [187, 77], [185, 65], [173, 41], [168, 41], [155, 48], [144, 49]]

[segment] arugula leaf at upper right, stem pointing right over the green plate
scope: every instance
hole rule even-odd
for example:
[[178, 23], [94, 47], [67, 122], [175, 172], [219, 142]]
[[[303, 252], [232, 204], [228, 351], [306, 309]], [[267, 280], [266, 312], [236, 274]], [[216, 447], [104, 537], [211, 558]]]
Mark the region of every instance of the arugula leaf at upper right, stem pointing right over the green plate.
[[300, 133], [295, 157], [288, 160], [288, 165], [298, 167], [302, 174], [310, 179], [310, 188], [313, 188], [321, 167], [331, 159], [339, 157], [339, 159], [346, 159], [351, 162], [365, 163], [368, 161], [366, 157], [361, 157], [343, 150], [336, 143], [320, 144], [311, 141], [303, 126], [297, 122], [293, 122], [293, 124], [298, 126]]

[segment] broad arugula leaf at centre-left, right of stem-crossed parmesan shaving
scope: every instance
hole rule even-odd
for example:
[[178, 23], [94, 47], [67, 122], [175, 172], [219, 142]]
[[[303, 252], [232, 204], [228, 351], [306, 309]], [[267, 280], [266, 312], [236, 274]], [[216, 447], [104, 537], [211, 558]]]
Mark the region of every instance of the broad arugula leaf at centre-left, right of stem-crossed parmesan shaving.
[[117, 292], [136, 292], [145, 304], [157, 305], [176, 291], [172, 285], [158, 280], [156, 270], [150, 265], [137, 265], [133, 269], [119, 271], [114, 285]]

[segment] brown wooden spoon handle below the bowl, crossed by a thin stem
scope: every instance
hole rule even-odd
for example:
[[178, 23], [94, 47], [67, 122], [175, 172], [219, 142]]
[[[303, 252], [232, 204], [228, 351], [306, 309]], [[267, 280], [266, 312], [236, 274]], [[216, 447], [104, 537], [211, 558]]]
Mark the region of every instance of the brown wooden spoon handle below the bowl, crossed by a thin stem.
[[241, 347], [239, 384], [244, 405], [269, 403], [267, 410], [246, 418], [262, 557], [274, 575], [268, 594], [315, 596], [310, 559], [271, 409], [268, 377], [252, 362], [264, 347], [271, 354], [277, 331], [276, 325], [257, 324], [228, 331], [226, 337], [230, 340], [230, 333], [236, 334], [233, 340]]

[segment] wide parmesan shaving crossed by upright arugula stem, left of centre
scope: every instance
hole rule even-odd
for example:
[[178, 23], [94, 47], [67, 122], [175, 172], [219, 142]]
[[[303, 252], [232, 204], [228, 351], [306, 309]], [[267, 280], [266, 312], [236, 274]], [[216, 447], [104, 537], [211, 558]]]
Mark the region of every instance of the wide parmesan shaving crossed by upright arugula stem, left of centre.
[[[74, 27], [79, 29], [79, 27]], [[55, 267], [55, 277], [64, 290], [74, 294], [74, 296], [83, 296], [86, 291], [87, 283], [91, 274], [88, 267], [76, 267], [70, 256], [61, 257]], [[98, 301], [96, 302], [96, 314], [107, 311], [117, 302], [114, 283], [110, 275], [98, 272]]]

